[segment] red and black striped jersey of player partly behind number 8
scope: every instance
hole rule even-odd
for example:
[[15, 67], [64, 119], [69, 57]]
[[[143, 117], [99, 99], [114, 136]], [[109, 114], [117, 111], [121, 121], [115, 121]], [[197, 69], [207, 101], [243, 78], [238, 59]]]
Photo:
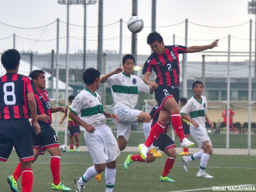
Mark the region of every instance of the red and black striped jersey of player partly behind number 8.
[[34, 93], [34, 97], [36, 100], [36, 110], [37, 114], [46, 114], [50, 117], [50, 120], [46, 121], [45, 123], [52, 123], [52, 111], [51, 111], [51, 105], [49, 100], [49, 95], [46, 90], [36, 90]]

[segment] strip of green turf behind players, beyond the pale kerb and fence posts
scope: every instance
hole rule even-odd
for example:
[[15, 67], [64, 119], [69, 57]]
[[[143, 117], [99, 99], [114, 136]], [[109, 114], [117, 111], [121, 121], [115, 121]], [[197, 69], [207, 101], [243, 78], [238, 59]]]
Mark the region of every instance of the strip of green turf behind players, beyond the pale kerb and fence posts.
[[[116, 132], [113, 132], [114, 136], [116, 136]], [[169, 133], [168, 133], [169, 134]], [[170, 135], [170, 134], [169, 134]], [[210, 139], [212, 140], [213, 148], [226, 148], [226, 134], [209, 134]], [[84, 143], [84, 134], [83, 132], [79, 135], [80, 144], [85, 145]], [[61, 144], [64, 144], [64, 132], [58, 132], [58, 139]], [[193, 141], [191, 136], [188, 137], [189, 140]], [[69, 138], [68, 138], [69, 140]], [[229, 138], [229, 148], [239, 148], [239, 149], [246, 149], [247, 142], [248, 142], [248, 135], [247, 134], [230, 134]], [[128, 141], [127, 146], [138, 146], [140, 143], [145, 142], [145, 137], [142, 132], [132, 131], [130, 134], [130, 138]], [[251, 148], [256, 149], [256, 135], [251, 135]], [[176, 137], [175, 143], [178, 144], [179, 140]], [[179, 145], [178, 145], [179, 146]]]

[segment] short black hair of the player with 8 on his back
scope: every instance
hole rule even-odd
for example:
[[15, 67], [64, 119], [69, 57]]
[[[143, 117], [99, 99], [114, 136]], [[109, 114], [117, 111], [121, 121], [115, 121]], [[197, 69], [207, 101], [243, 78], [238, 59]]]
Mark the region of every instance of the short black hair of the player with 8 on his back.
[[20, 53], [16, 49], [8, 49], [1, 56], [1, 63], [6, 70], [15, 69], [20, 61]]

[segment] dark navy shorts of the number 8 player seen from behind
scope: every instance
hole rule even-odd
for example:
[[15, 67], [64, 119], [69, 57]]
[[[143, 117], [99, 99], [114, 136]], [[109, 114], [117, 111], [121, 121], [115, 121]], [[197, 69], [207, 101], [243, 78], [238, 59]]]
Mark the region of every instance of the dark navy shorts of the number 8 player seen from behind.
[[28, 119], [0, 120], [0, 161], [7, 161], [13, 146], [20, 161], [34, 160], [32, 128]]

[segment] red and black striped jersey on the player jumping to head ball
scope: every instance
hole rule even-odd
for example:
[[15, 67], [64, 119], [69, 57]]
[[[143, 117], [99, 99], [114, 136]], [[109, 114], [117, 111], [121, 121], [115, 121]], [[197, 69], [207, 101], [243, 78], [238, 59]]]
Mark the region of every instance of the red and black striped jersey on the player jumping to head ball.
[[174, 86], [180, 85], [180, 64], [179, 54], [185, 53], [187, 47], [180, 45], [165, 46], [166, 51], [157, 55], [152, 53], [146, 60], [142, 74], [154, 70], [156, 83], [159, 85]]

